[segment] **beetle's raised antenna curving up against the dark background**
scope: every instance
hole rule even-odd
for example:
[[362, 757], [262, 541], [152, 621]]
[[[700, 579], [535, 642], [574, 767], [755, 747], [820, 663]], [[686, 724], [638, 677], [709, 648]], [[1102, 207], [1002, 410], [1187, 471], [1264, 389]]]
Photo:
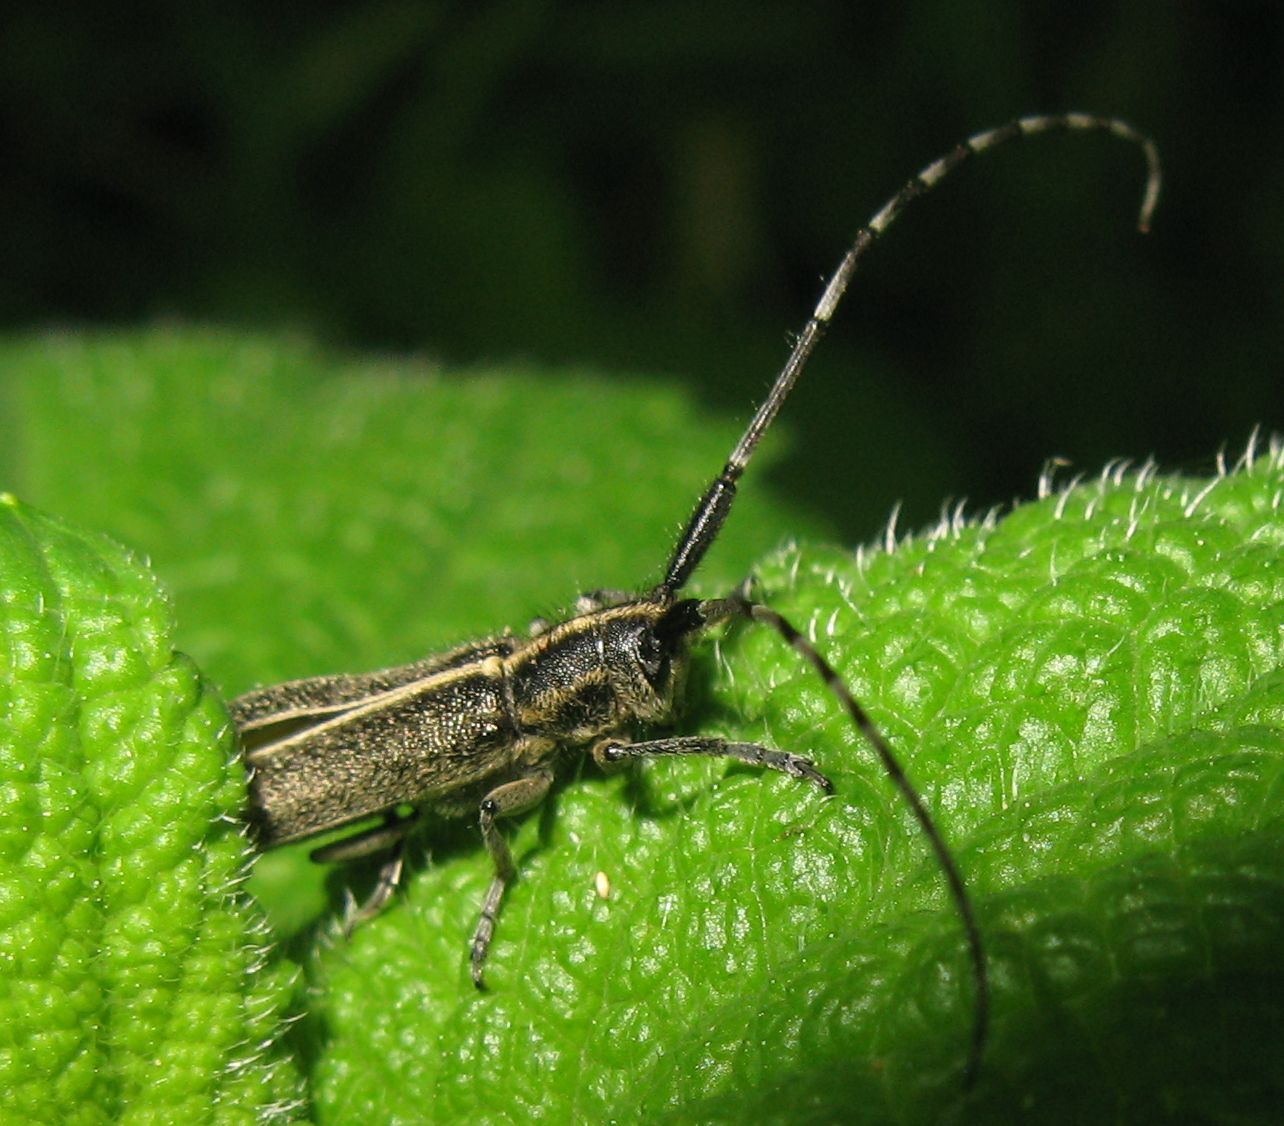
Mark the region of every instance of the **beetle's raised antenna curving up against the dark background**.
[[1150, 216], [1159, 199], [1159, 181], [1162, 178], [1159, 152], [1154, 141], [1145, 136], [1145, 134], [1138, 132], [1127, 122], [1113, 117], [1095, 117], [1090, 113], [1045, 113], [1032, 117], [1018, 117], [1016, 121], [1009, 121], [998, 128], [975, 134], [953, 152], [939, 160], [933, 160], [889, 199], [878, 213], [856, 232], [851, 249], [847, 250], [842, 262], [838, 263], [838, 268], [826, 284], [824, 293], [820, 294], [820, 300], [817, 302], [810, 318], [802, 326], [802, 331], [794, 343], [790, 358], [785, 362], [785, 367], [781, 368], [779, 375], [776, 376], [776, 383], [772, 385], [770, 393], [759, 406], [749, 426], [745, 428], [745, 433], [727, 460], [723, 471], [709, 485], [704, 497], [700, 498], [700, 503], [696, 506], [696, 511], [687, 523], [687, 528], [678, 541], [678, 546], [674, 548], [673, 557], [669, 560], [664, 582], [656, 588], [659, 596], [672, 598], [673, 594], [681, 591], [718, 538], [718, 533], [727, 520], [727, 514], [731, 511], [732, 501], [736, 498], [736, 481], [740, 480], [763, 434], [767, 433], [768, 428], [776, 420], [777, 413], [779, 413], [781, 407], [785, 404], [785, 399], [788, 398], [794, 384], [802, 374], [802, 368], [806, 367], [808, 359], [815, 351], [820, 336], [824, 335], [824, 330], [828, 327], [829, 320], [838, 307], [838, 302], [842, 300], [842, 295], [847, 291], [847, 285], [865, 252], [878, 241], [878, 238], [895, 222], [896, 217], [909, 203], [931, 191], [969, 157], [976, 157], [987, 149], [998, 148], [1014, 137], [1028, 137], [1035, 134], [1059, 130], [1108, 132], [1112, 136], [1141, 148], [1141, 152], [1145, 154], [1147, 176], [1145, 191], [1141, 196], [1141, 211], [1138, 214], [1136, 226], [1141, 232], [1150, 229]]

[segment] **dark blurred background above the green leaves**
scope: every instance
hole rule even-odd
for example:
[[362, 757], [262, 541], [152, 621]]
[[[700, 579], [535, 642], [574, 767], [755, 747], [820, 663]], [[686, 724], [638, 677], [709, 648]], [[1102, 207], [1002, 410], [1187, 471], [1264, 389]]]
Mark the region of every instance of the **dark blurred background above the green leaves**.
[[1280, 425], [1275, 4], [72, 9], [0, 35], [9, 330], [285, 326], [745, 416], [889, 193], [1081, 109], [1158, 140], [1153, 234], [1108, 137], [962, 171], [867, 261], [776, 480], [856, 541], [898, 498], [914, 525], [1028, 496], [1050, 456], [1201, 472]]

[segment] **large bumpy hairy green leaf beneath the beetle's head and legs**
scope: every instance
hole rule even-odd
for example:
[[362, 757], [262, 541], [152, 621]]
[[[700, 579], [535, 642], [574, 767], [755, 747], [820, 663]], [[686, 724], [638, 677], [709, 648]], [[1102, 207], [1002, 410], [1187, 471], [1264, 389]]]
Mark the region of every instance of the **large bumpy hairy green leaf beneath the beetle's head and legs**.
[[439, 858], [322, 957], [335, 1121], [412, 1121], [425, 1091], [443, 1121], [1099, 1121], [1157, 1100], [1270, 1121], [1281, 484], [1278, 456], [1215, 483], [1121, 476], [892, 553], [760, 569], [958, 850], [995, 987], [973, 1096], [972, 982], [921, 835], [824, 689], [741, 633], [698, 725], [806, 750], [837, 795], [672, 763], [568, 786], [517, 835], [480, 998], [461, 939], [485, 863]]

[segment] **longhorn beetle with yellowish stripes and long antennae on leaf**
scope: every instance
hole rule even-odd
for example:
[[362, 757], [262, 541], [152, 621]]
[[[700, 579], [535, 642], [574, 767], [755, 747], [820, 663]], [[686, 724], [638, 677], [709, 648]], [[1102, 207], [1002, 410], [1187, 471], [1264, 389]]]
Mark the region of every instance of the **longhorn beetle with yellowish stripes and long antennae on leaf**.
[[[1081, 113], [1023, 117], [976, 134], [905, 184], [860, 229], [799, 334], [776, 383], [705, 490], [665, 567], [645, 594], [598, 591], [575, 603], [565, 621], [537, 621], [529, 638], [511, 633], [470, 642], [410, 665], [362, 675], [313, 677], [262, 688], [235, 700], [249, 772], [247, 818], [259, 847], [340, 828], [372, 815], [374, 828], [316, 849], [317, 862], [386, 853], [369, 899], [349, 910], [347, 932], [375, 915], [402, 878], [406, 838], [428, 814], [478, 811], [494, 878], [471, 945], [473, 981], [494, 937], [512, 855], [496, 822], [537, 805], [565, 751], [588, 749], [602, 767], [661, 755], [720, 755], [810, 782], [829, 779], [805, 758], [713, 736], [633, 741], [633, 729], [673, 718], [692, 638], [723, 621], [749, 619], [774, 629], [806, 661], [873, 747], [913, 810], [945, 874], [971, 954], [976, 1000], [968, 1082], [977, 1073], [989, 1025], [989, 980], [981, 932], [954, 856], [932, 815], [878, 728], [820, 652], [779, 614], [754, 602], [749, 587], [724, 598], [681, 598], [718, 538], [736, 485], [763, 434], [802, 372], [856, 264], [892, 221], [968, 157], [1014, 137], [1052, 130], [1099, 130], [1141, 148], [1145, 194], [1138, 227], [1148, 230], [1159, 191], [1154, 144], [1113, 118]], [[410, 813], [402, 810], [410, 808]]]

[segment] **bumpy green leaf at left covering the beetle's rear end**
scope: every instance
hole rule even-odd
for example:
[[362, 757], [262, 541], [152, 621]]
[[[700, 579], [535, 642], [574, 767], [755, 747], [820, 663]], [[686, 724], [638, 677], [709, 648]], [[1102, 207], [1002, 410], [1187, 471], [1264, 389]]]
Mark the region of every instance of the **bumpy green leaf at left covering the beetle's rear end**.
[[0, 494], [0, 1120], [284, 1118], [222, 705], [105, 537]]

